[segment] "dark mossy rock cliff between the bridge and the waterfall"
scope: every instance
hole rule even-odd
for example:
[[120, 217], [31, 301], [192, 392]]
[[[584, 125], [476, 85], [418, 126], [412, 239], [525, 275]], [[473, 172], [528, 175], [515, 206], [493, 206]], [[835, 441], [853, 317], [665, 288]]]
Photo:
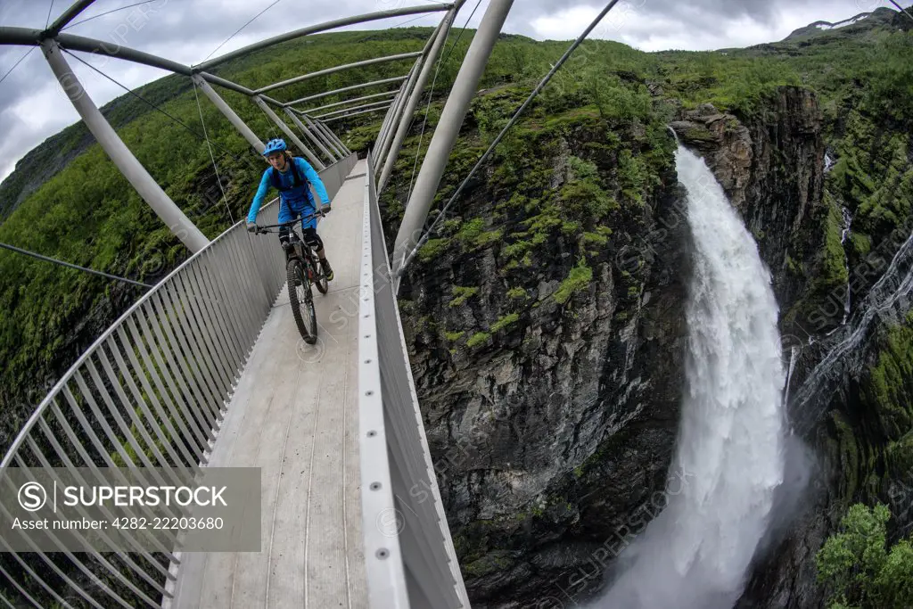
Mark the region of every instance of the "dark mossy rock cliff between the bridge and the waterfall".
[[[429, 242], [442, 251], [411, 267], [400, 291], [475, 607], [595, 592], [669, 484], [686, 331], [683, 193], [666, 131], [660, 181], [642, 204], [628, 201], [614, 168], [632, 151], [610, 150], [606, 130], [580, 115], [536, 136], [538, 162], [516, 187], [489, 167], [459, 228]], [[643, 130], [612, 137], [638, 142]], [[613, 204], [598, 222], [574, 211], [578, 198], [593, 203], [576, 193], [596, 179], [585, 196]]]

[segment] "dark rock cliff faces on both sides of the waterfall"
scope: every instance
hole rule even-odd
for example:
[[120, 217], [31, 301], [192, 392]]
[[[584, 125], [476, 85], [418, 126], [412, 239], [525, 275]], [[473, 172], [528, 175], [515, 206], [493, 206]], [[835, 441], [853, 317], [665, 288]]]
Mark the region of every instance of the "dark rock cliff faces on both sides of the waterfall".
[[[829, 300], [846, 262], [817, 102], [783, 87], [747, 115], [709, 105], [674, 114], [670, 126], [707, 161], [771, 268], [795, 392], [843, 335], [826, 336], [843, 316]], [[668, 471], [685, 386], [689, 247], [671, 156], [643, 205], [567, 226], [569, 189], [590, 207], [602, 194], [624, 200], [618, 168], [649, 150], [643, 129], [577, 115], [546, 135], [530, 131], [524, 152], [540, 164], [488, 167], [404, 280], [406, 341], [473, 606], [592, 598], [632, 536], [687, 485], [687, 472]], [[641, 143], [625, 152], [617, 142]], [[579, 187], [593, 171], [602, 194]], [[501, 183], [505, 173], [513, 182]], [[550, 193], [558, 206], [545, 222]], [[530, 236], [538, 247], [516, 240]], [[878, 386], [868, 366], [886, 341], [866, 333], [855, 372], [828, 385], [815, 413], [793, 401], [800, 433], [740, 607], [822, 606], [814, 553], [841, 502], [859, 497], [877, 463], [906, 462], [904, 430], [884, 440], [884, 413], [900, 407], [879, 415], [868, 405]], [[903, 368], [894, 351], [891, 370]]]

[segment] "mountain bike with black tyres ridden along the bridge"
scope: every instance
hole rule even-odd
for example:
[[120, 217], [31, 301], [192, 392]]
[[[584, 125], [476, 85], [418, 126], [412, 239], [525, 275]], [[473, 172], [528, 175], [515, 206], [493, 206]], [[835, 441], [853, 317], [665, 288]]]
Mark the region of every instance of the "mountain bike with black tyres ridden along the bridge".
[[[317, 254], [298, 233], [295, 225], [301, 225], [314, 217], [323, 217], [330, 211], [326, 205], [319, 212], [302, 216], [291, 222], [278, 225], [257, 226], [257, 234], [278, 233], [279, 229], [288, 226], [288, 243], [282, 244], [286, 254], [286, 277], [289, 279], [289, 302], [291, 314], [295, 318], [295, 325], [301, 333], [301, 338], [308, 344], [317, 342], [317, 311], [314, 310], [314, 298], [311, 285], [317, 286], [321, 294], [326, 294], [330, 288]], [[276, 230], [269, 230], [275, 228]]]

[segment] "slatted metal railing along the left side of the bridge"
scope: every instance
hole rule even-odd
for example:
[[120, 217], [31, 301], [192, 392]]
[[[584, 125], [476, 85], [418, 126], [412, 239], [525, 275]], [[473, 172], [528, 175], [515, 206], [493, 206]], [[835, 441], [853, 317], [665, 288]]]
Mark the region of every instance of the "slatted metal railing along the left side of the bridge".
[[[331, 197], [356, 162], [352, 154], [320, 173]], [[276, 200], [263, 207], [266, 223], [278, 221], [278, 207]], [[205, 467], [285, 281], [281, 248], [250, 236], [244, 222], [188, 258], [101, 334], [38, 404], [0, 463], [3, 492], [16, 493], [11, 467], [52, 477], [56, 467]], [[157, 552], [46, 553], [11, 551], [0, 539], [8, 552], [0, 556], [0, 573], [37, 607], [159, 607], [181, 565], [180, 541], [169, 541]], [[2, 595], [0, 602], [18, 606]]]

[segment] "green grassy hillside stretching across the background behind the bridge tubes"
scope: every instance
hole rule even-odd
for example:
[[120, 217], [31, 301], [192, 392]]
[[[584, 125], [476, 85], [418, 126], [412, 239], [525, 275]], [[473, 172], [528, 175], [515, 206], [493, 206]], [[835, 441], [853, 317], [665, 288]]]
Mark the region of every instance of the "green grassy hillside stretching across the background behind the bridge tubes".
[[[363, 58], [418, 50], [429, 28], [383, 32], [352, 32], [299, 39], [284, 45], [283, 53], [261, 51], [227, 64], [220, 76], [257, 88], [300, 73]], [[451, 38], [453, 39], [453, 37]], [[471, 33], [462, 37], [442, 66], [436, 96], [446, 93], [456, 76]], [[840, 162], [834, 181], [848, 205], [860, 217], [855, 247], [874, 247], [879, 236], [908, 215], [886, 196], [908, 189], [908, 133], [913, 116], [910, 35], [884, 27], [866, 37], [817, 37], [814, 45], [783, 42], [751, 49], [720, 52], [646, 54], [624, 45], [588, 41], [578, 50], [536, 108], [543, 116], [592, 106], [614, 121], [649, 117], [662, 121], [663, 105], [651, 99], [676, 98], [685, 105], [710, 101], [720, 109], [750, 111], [766, 90], [781, 84], [804, 84], [817, 90], [827, 112], [828, 140]], [[513, 85], [518, 93], [509, 102], [489, 104], [477, 116], [488, 133], [496, 133], [522, 96], [561, 56], [565, 42], [535, 42], [503, 36], [481, 87]], [[278, 99], [295, 99], [321, 90], [402, 74], [406, 64], [380, 64], [312, 79], [278, 91]], [[654, 95], [651, 95], [654, 94]], [[110, 120], [123, 140], [158, 180], [177, 205], [206, 236], [215, 237], [247, 211], [253, 189], [264, 168], [228, 122], [201, 99], [206, 129], [214, 144], [215, 162], [226, 188], [228, 206], [221, 200], [215, 171], [194, 99], [184, 77], [168, 77], [140, 90], [162, 105], [177, 124], [131, 96], [111, 102]], [[242, 118], [268, 138], [278, 134], [266, 116], [242, 96], [223, 91]], [[202, 98], [202, 96], [201, 96]], [[328, 98], [320, 103], [330, 103]], [[658, 114], [656, 114], [658, 113]], [[382, 114], [366, 115], [339, 125], [353, 149], [371, 142]], [[434, 118], [434, 117], [433, 117]], [[99, 146], [87, 142], [81, 125], [46, 142], [4, 184], [15, 190], [47, 163], [63, 168], [41, 184], [0, 225], [0, 241], [111, 273], [154, 282], [186, 257], [182, 245], [131, 189]], [[886, 145], [887, 143], [887, 145]], [[514, 145], [501, 152], [523, 154]], [[464, 171], [471, 166], [466, 151], [455, 152]], [[509, 163], [510, 159], [503, 159]], [[906, 173], [905, 173], [906, 172]], [[12, 192], [12, 191], [11, 191]], [[9, 206], [10, 198], [6, 198]], [[909, 199], [907, 199], [909, 200]], [[888, 203], [883, 203], [887, 201]], [[0, 210], [2, 212], [2, 210]], [[106, 279], [0, 252], [0, 408], [5, 433], [21, 425], [49, 383], [68, 367], [140, 290]], [[87, 322], [90, 320], [90, 322]], [[31, 394], [29, 392], [32, 392]]]

